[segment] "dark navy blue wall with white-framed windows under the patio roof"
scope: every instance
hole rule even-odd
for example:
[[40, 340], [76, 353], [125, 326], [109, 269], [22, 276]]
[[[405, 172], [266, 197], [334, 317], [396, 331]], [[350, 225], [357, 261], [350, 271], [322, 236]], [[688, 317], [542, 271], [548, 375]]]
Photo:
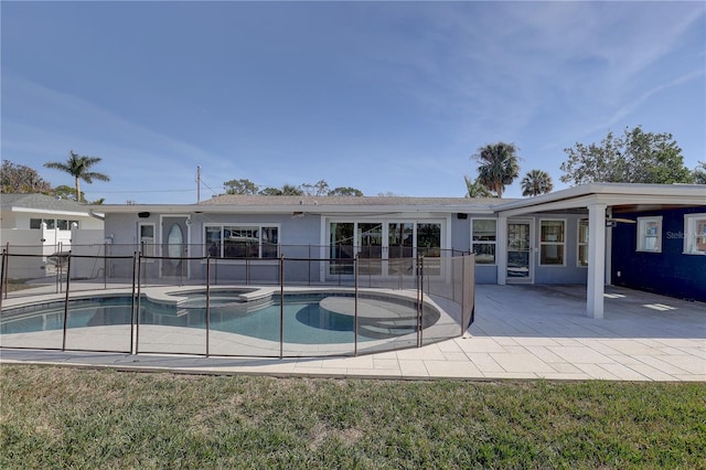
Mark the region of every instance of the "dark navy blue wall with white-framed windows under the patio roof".
[[703, 212], [706, 207], [620, 214], [632, 220], [661, 215], [662, 253], [637, 252], [638, 224], [619, 223], [613, 228], [612, 284], [706, 301], [706, 256], [683, 253], [684, 215]]

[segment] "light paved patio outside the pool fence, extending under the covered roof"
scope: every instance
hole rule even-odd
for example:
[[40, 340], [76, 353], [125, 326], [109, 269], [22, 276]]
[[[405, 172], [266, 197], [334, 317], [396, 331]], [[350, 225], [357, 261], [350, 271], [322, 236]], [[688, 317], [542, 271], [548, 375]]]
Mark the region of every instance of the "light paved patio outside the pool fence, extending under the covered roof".
[[478, 286], [463, 338], [357, 357], [220, 359], [2, 350], [0, 363], [271, 376], [706, 382], [706, 305], [606, 288], [605, 319], [584, 286]]

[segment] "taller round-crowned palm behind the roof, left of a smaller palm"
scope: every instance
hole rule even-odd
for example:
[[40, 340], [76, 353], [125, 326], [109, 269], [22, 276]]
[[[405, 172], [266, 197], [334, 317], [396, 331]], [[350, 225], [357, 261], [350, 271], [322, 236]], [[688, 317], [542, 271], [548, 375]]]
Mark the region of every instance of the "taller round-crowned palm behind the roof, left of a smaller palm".
[[478, 149], [472, 158], [479, 161], [478, 181], [495, 192], [498, 197], [503, 196], [506, 184], [520, 175], [520, 158], [514, 143], [489, 143]]

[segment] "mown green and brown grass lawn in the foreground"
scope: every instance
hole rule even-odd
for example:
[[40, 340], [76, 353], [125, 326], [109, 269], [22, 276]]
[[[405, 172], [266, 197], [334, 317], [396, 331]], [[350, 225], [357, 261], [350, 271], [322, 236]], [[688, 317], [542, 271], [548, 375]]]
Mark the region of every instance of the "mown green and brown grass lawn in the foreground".
[[706, 468], [706, 384], [2, 366], [0, 468]]

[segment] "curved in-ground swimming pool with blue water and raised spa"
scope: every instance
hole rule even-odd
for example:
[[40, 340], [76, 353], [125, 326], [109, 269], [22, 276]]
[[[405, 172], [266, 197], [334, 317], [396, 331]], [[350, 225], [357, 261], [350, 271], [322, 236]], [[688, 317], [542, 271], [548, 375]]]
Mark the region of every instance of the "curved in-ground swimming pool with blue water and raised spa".
[[[347, 292], [300, 292], [284, 296], [280, 322], [279, 293], [253, 295], [248, 290], [215, 290], [208, 296], [208, 329], [271, 342], [291, 344], [353, 343], [355, 297]], [[142, 295], [139, 325], [206, 329], [205, 291]], [[136, 306], [137, 309], [137, 306]], [[69, 300], [67, 330], [131, 324], [130, 295], [100, 295]], [[417, 332], [414, 299], [366, 295], [357, 300], [357, 341], [395, 340]], [[434, 324], [439, 312], [425, 307], [425, 327]], [[33, 333], [64, 329], [64, 302], [3, 310], [0, 333]], [[3, 341], [3, 345], [6, 345]]]

